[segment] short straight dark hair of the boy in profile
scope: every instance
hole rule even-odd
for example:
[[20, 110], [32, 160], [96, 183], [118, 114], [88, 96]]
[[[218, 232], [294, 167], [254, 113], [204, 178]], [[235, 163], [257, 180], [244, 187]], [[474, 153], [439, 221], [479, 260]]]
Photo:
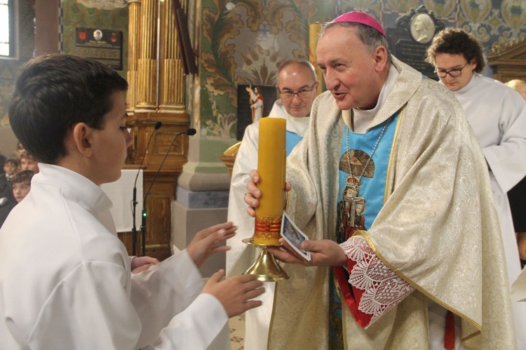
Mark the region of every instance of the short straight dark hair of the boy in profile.
[[112, 93], [127, 89], [126, 79], [95, 60], [41, 56], [23, 67], [15, 83], [11, 128], [36, 161], [54, 164], [67, 154], [68, 129], [76, 123], [102, 129]]

